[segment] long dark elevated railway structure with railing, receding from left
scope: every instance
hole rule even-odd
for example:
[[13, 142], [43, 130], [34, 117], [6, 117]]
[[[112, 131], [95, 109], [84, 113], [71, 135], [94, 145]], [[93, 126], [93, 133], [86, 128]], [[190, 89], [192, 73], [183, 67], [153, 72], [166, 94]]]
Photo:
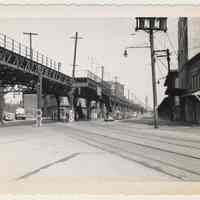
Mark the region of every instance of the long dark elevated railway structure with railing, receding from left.
[[[26, 92], [37, 93], [41, 96], [54, 95], [59, 112], [59, 97], [69, 97], [75, 88], [75, 99], [84, 98], [87, 102], [88, 119], [90, 119], [90, 103], [96, 101], [101, 110], [103, 106], [113, 111], [116, 106], [121, 110], [133, 109], [133, 104], [126, 98], [111, 95], [111, 86], [98, 76], [86, 70], [82, 76], [72, 78], [60, 72], [61, 63], [45, 56], [5, 34], [0, 33], [0, 95], [7, 86], [21, 85]], [[73, 84], [73, 85], [72, 85]], [[2, 101], [2, 98], [0, 98]], [[77, 101], [74, 101], [75, 104]], [[59, 115], [58, 115], [59, 116]]]

